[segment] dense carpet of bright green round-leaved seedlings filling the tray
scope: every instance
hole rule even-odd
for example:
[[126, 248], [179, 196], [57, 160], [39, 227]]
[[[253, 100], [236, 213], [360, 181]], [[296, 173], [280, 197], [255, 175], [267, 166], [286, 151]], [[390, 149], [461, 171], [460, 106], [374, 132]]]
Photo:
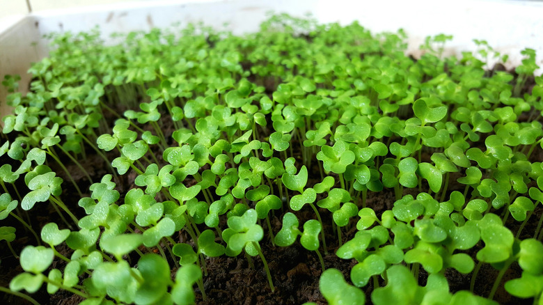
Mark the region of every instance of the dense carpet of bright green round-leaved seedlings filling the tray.
[[[274, 293], [273, 266], [289, 262], [270, 272], [265, 252], [300, 237], [329, 304], [494, 304], [514, 264], [522, 276], [505, 290], [542, 302], [533, 49], [511, 73], [485, 70], [507, 56], [484, 40], [456, 58], [443, 56], [451, 36], [428, 37], [415, 61], [403, 31], [357, 22], [274, 15], [244, 36], [175, 31], [118, 34], [119, 45], [54, 34], [28, 93], [4, 79], [0, 240], [24, 271], [12, 292], [205, 303], [207, 262], [226, 255], [264, 267]], [[62, 223], [45, 224], [49, 212]], [[325, 270], [334, 255], [356, 260], [342, 270], [353, 286]], [[488, 295], [449, 291], [450, 268], [478, 286], [485, 264], [499, 270]]]

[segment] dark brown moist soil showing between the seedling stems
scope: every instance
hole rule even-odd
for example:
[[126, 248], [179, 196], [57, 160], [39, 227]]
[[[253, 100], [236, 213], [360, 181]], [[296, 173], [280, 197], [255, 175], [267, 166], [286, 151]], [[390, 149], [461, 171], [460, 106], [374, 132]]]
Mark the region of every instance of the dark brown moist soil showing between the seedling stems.
[[[526, 84], [526, 91], [529, 91], [533, 86], [532, 84]], [[272, 90], [269, 90], [272, 91]], [[111, 105], [113, 106], [113, 105]], [[121, 110], [121, 109], [119, 109]], [[124, 110], [124, 109], [123, 109]], [[122, 111], [121, 111], [122, 113]], [[409, 113], [407, 114], [409, 116]], [[540, 117], [541, 118], [541, 117]], [[113, 117], [107, 118], [111, 125], [113, 125]], [[171, 137], [173, 132], [173, 125], [171, 120], [163, 115], [162, 127], [164, 134]], [[13, 136], [13, 134], [10, 134]], [[10, 139], [13, 140], [13, 139]], [[484, 143], [484, 139], [481, 139], [479, 143]], [[297, 141], [292, 141], [292, 147], [294, 148], [294, 156], [301, 155], [299, 153], [299, 143]], [[476, 145], [475, 145], [476, 146]], [[108, 156], [110, 159], [117, 157], [116, 153], [110, 153]], [[281, 157], [281, 156], [277, 156]], [[162, 161], [162, 156], [157, 156], [159, 162]], [[297, 161], [300, 161], [301, 158], [297, 158]], [[423, 154], [423, 159], [428, 159], [428, 155]], [[542, 150], [537, 150], [534, 152], [532, 157], [530, 157], [531, 162], [542, 162], [543, 152]], [[310, 168], [310, 179], [308, 181], [308, 186], [312, 186], [317, 182], [320, 182], [320, 171], [316, 166], [316, 159], [312, 162], [312, 167]], [[0, 157], [0, 164], [12, 162], [15, 166], [15, 162], [7, 156]], [[63, 159], [63, 162], [68, 167], [68, 170], [74, 179], [77, 180], [81, 190], [88, 189], [90, 183], [84, 178], [84, 175], [79, 173], [77, 166], [72, 164], [69, 159]], [[102, 175], [109, 173], [107, 164], [104, 164], [104, 161], [93, 154], [93, 150], [87, 151], [87, 159], [82, 162], [86, 169], [88, 169], [93, 180], [100, 181]], [[72, 212], [76, 214], [77, 217], [83, 217], [84, 210], [79, 208], [77, 205], [79, 201], [79, 195], [74, 190], [70, 184], [68, 178], [65, 176], [65, 173], [56, 166], [56, 164], [51, 163], [49, 166], [56, 171], [57, 175], [65, 180], [63, 183], [64, 192], [61, 195], [63, 201], [72, 208]], [[79, 174], [78, 174], [79, 173]], [[448, 193], [451, 191], [464, 191], [464, 185], [460, 185], [455, 182], [457, 178], [460, 177], [460, 173], [450, 176], [450, 185], [448, 187]], [[117, 190], [120, 192], [119, 202], [123, 201], [124, 195], [129, 189], [135, 187], [134, 185], [135, 173], [129, 172], [126, 175], [121, 175], [120, 180], [115, 181], [117, 184]], [[485, 177], [483, 177], [485, 178]], [[336, 179], [337, 181], [338, 179]], [[196, 182], [194, 181], [185, 181], [186, 185], [191, 185]], [[534, 186], [534, 185], [529, 185]], [[8, 186], [9, 187], [9, 186]], [[339, 187], [339, 186], [336, 186]], [[19, 190], [26, 190], [26, 185], [22, 182], [22, 179], [19, 179], [19, 185], [17, 185]], [[427, 190], [427, 185], [423, 186], [423, 191]], [[278, 194], [278, 189], [275, 189], [275, 194]], [[294, 193], [289, 194], [289, 197], [294, 196]], [[418, 189], [404, 189], [404, 194], [418, 194]], [[85, 194], [89, 196], [90, 194]], [[322, 195], [321, 195], [322, 196]], [[446, 197], [448, 198], [448, 196]], [[320, 198], [317, 196], [317, 201]], [[381, 192], [375, 193], [368, 191], [368, 198], [366, 205], [369, 208], [375, 210], [377, 217], [380, 218], [380, 215], [385, 210], [389, 210], [393, 207], [395, 201], [395, 196], [393, 189], [384, 189]], [[253, 203], [254, 204], [254, 203]], [[361, 207], [361, 199], [357, 203]], [[288, 212], [285, 210], [284, 212]], [[331, 213], [328, 210], [319, 209], [322, 219], [332, 219]], [[496, 214], [501, 214], [502, 211], [495, 211]], [[275, 211], [274, 215], [271, 217], [272, 230], [274, 233], [277, 233], [281, 229], [281, 219], [282, 212]], [[521, 239], [532, 237], [537, 226], [537, 220], [540, 217], [543, 217], [543, 208], [542, 205], [537, 205], [537, 208], [530, 217], [530, 221], [526, 224], [526, 227], [523, 230]], [[303, 224], [304, 221], [312, 219], [314, 214], [313, 211], [308, 207], [302, 209], [297, 213], [299, 217], [300, 224]], [[33, 228], [38, 228], [36, 230], [39, 234], [42, 226], [49, 222], [56, 222], [59, 225], [59, 228], [63, 228], [63, 221], [58, 217], [56, 211], [46, 203], [38, 203], [31, 210], [31, 212], [26, 213], [22, 212], [22, 217], [24, 219], [29, 219]], [[356, 233], [356, 221], [358, 217], [353, 217], [351, 223], [348, 226], [342, 228], [343, 242], [352, 239]], [[36, 244], [36, 240], [33, 239], [33, 235], [26, 232], [24, 227], [22, 227], [13, 217], [8, 217], [8, 219], [3, 220], [3, 226], [14, 226], [17, 228], [17, 239], [11, 243], [13, 249], [17, 253], [20, 253], [22, 248], [27, 244]], [[224, 222], [226, 219], [222, 219], [223, 223], [220, 225], [222, 228], [226, 226]], [[507, 227], [512, 230], [513, 233], [517, 233], [517, 230], [520, 226], [520, 222], [515, 221], [512, 217], [509, 217], [507, 221]], [[272, 292], [269, 288], [267, 277], [263, 269], [262, 261], [258, 256], [248, 259], [247, 256], [240, 254], [235, 258], [230, 258], [227, 256], [221, 256], [219, 258], [208, 258], [206, 261], [207, 264], [207, 275], [203, 277], [205, 292], [207, 294], [207, 299], [203, 300], [201, 297], [198, 288], [195, 286], [197, 304], [303, 304], [304, 302], [316, 302], [317, 304], [326, 304], [324, 297], [319, 290], [319, 278], [322, 273], [322, 267], [317, 258], [317, 255], [313, 251], [307, 251], [299, 244], [299, 240], [295, 242], [290, 247], [273, 247], [272, 243], [269, 242], [269, 228], [265, 224], [265, 221], [262, 221], [262, 227], [265, 229], [265, 237], [260, 245], [262, 247], [262, 252], [264, 253], [265, 258], [269, 264], [269, 269], [272, 272], [272, 278], [274, 286], [276, 288], [275, 292]], [[204, 226], [200, 226], [200, 229], [204, 229]], [[333, 233], [332, 224], [330, 221], [324, 222], [324, 232], [326, 234], [326, 242], [328, 246], [328, 253], [322, 253], [324, 258], [324, 263], [326, 268], [336, 268], [343, 272], [345, 280], [350, 283], [350, 270], [354, 265], [356, 265], [356, 260], [343, 260], [338, 258], [335, 255], [336, 250], [338, 249], [338, 238], [336, 233]], [[173, 239], [176, 242], [187, 242], [190, 240], [189, 236], [180, 231], [178, 235], [174, 235]], [[217, 240], [219, 241], [219, 240]], [[1, 264], [0, 264], [0, 286], [7, 287], [9, 282], [13, 277], [19, 273], [22, 273], [23, 270], [19, 265], [19, 260], [15, 258], [8, 248], [6, 247], [5, 242], [2, 245], [3, 251], [1, 252]], [[475, 254], [479, 249], [483, 247], [483, 243], [479, 242], [469, 254], [475, 259]], [[64, 256], [70, 257], [72, 250], [69, 249], [65, 244], [61, 244], [56, 247]], [[322, 248], [320, 248], [322, 249]], [[156, 249], [155, 249], [156, 250]], [[144, 248], [141, 251], [145, 252]], [[322, 250], [321, 250], [322, 251]], [[137, 257], [134, 256], [132, 261], [137, 260]], [[475, 262], [477, 260], [475, 259]], [[172, 262], [170, 262], [173, 265]], [[51, 268], [63, 269], [65, 267], [65, 262], [63, 260], [56, 259], [52, 264]], [[177, 270], [172, 269], [172, 276], [175, 275]], [[47, 274], [48, 271], [44, 272]], [[487, 297], [491, 290], [491, 286], [494, 283], [498, 270], [491, 267], [491, 265], [483, 264], [478, 277], [476, 279], [475, 285], [475, 294]], [[518, 264], [513, 264], [510, 269], [505, 273], [505, 276], [501, 282], [500, 288], [496, 292], [494, 300], [500, 304], [531, 304], [532, 299], [519, 299], [512, 297], [503, 289], [503, 283], [509, 279], [519, 278], [521, 276], [521, 268]], [[456, 292], [459, 290], [469, 290], [471, 274], [460, 274], [454, 269], [447, 269], [446, 277], [449, 282], [451, 292]], [[427, 274], [423, 268], [420, 268], [419, 274], [419, 283], [424, 285], [427, 279]], [[82, 279], [81, 279], [82, 280]], [[384, 286], [384, 281], [379, 278], [379, 285]], [[366, 294], [366, 304], [372, 304], [370, 299], [370, 293], [374, 290], [373, 283], [370, 281], [367, 286], [363, 288]], [[1, 293], [1, 292], [0, 292]], [[71, 305], [79, 304], [83, 299], [77, 295], [72, 295], [70, 292], [65, 292], [59, 290], [55, 295], [49, 295], [46, 291], [46, 286], [42, 286], [38, 292], [32, 295], [40, 304], [61, 304], [61, 305]], [[0, 294], [1, 302], [0, 304], [30, 304], [19, 297], [14, 297], [13, 295], [6, 295], [4, 293]]]

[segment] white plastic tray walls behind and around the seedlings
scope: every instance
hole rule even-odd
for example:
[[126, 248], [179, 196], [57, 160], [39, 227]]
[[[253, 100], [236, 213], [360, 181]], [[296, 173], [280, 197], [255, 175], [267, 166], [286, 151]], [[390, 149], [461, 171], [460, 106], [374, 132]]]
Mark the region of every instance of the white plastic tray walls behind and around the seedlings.
[[[32, 62], [47, 56], [43, 35], [58, 31], [89, 31], [99, 25], [102, 38], [111, 33], [165, 28], [175, 22], [204, 22], [236, 34], [258, 31], [267, 13], [290, 13], [297, 17], [311, 13], [319, 22], [349, 24], [358, 20], [377, 33], [398, 31], [409, 36], [408, 52], [430, 35], [453, 35], [447, 54], [461, 54], [477, 48], [473, 39], [484, 39], [496, 51], [509, 54], [507, 67], [521, 63], [520, 51], [535, 49], [537, 64], [543, 66], [543, 3], [490, 0], [176, 0], [123, 2], [110, 6], [52, 10], [0, 22], [0, 80], [4, 75], [21, 75], [26, 88], [26, 70]], [[541, 69], [536, 74], [541, 74]], [[6, 114], [5, 89], [0, 86], [0, 114]], [[1, 124], [1, 122], [0, 122]]]

